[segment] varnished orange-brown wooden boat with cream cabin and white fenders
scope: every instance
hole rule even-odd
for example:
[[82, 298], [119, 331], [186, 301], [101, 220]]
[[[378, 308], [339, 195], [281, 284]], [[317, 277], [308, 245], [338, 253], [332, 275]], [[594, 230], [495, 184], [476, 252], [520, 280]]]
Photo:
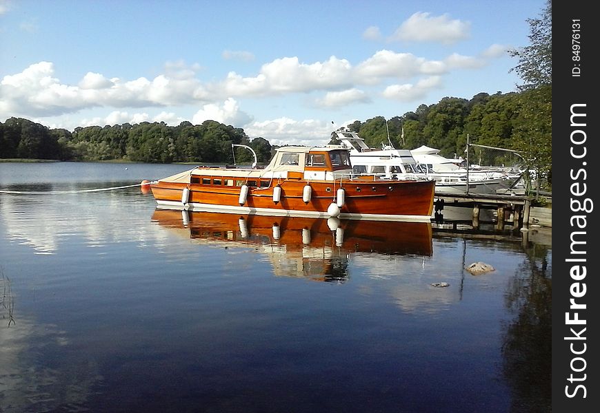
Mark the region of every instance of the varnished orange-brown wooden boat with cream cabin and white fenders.
[[281, 147], [264, 169], [194, 167], [150, 184], [159, 208], [429, 222], [430, 180], [352, 176], [348, 149]]

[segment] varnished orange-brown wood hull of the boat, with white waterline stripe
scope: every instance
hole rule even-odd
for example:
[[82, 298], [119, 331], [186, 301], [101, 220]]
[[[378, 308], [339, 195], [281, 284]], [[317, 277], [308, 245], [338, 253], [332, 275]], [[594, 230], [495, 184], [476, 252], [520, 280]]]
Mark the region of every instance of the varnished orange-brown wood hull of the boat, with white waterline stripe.
[[[310, 184], [312, 194], [303, 201], [303, 189]], [[328, 218], [328, 208], [336, 202], [339, 181], [285, 180], [281, 182], [281, 198], [273, 200], [274, 185], [250, 188], [240, 204], [240, 187], [167, 182], [151, 185], [159, 207], [190, 211], [217, 211], [243, 215], [276, 215]], [[339, 218], [354, 220], [406, 220], [429, 222], [434, 198], [432, 181], [344, 180], [344, 202]], [[182, 202], [184, 189], [189, 190], [187, 202]]]

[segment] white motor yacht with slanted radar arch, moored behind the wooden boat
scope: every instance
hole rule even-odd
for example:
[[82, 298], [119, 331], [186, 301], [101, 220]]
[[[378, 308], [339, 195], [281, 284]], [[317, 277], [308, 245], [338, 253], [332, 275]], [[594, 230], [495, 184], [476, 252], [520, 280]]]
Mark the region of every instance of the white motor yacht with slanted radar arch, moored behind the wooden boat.
[[[447, 158], [439, 156], [436, 171], [432, 165], [421, 163], [408, 149], [394, 149], [391, 145], [382, 149], [370, 148], [363, 138], [348, 129], [335, 131], [337, 139], [350, 149], [352, 171], [356, 174], [368, 173], [388, 179], [402, 180], [434, 180], [435, 191], [445, 193], [492, 194], [498, 189], [506, 189], [514, 182], [515, 177], [502, 171], [467, 171]], [[427, 148], [428, 155], [438, 149]], [[468, 181], [467, 181], [468, 176]]]

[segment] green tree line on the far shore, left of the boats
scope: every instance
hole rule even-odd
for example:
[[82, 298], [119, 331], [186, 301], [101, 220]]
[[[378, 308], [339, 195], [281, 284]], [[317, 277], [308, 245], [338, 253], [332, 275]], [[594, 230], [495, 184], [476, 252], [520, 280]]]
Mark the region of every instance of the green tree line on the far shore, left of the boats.
[[250, 140], [243, 129], [206, 120], [201, 125], [182, 122], [106, 125], [50, 129], [24, 118], [0, 123], [0, 158], [32, 158], [69, 161], [123, 160], [128, 162], [251, 162], [249, 151], [232, 144], [248, 145], [259, 162], [268, 162], [271, 145], [263, 138]]

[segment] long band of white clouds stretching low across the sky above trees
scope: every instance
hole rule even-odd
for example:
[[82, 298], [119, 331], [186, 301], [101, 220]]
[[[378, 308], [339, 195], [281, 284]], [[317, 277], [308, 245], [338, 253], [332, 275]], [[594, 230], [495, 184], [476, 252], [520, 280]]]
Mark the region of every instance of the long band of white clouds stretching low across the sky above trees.
[[[494, 45], [486, 53], [491, 55], [499, 49], [500, 46]], [[167, 62], [164, 73], [154, 78], [128, 80], [88, 72], [74, 85], [60, 81], [53, 63], [41, 61], [26, 67], [21, 73], [0, 79], [0, 96], [3, 97], [0, 100], [0, 118], [51, 118], [101, 107], [107, 109], [107, 113], [108, 110], [117, 112], [112, 112], [107, 118], [94, 118], [98, 122], [111, 124], [107, 120], [118, 113], [126, 114], [127, 122], [137, 123], [138, 119], [148, 120], [151, 116], [145, 112], [131, 113], [159, 108], [165, 111], [159, 116], [161, 121], [174, 122], [179, 120], [171, 113], [175, 107], [201, 107], [194, 115], [194, 123], [210, 118], [242, 127], [252, 118], [240, 111], [237, 98], [323, 92], [323, 97], [314, 100], [314, 103], [334, 108], [370, 102], [370, 97], [363, 92], [363, 86], [368, 86], [370, 94], [383, 93], [383, 96], [398, 98], [401, 91], [402, 100], [408, 102], [408, 97], [413, 96], [412, 101], [416, 101], [422, 96], [416, 91], [422, 92], [423, 86], [409, 87], [414, 79], [441, 76], [449, 70], [481, 67], [486, 63], [484, 59], [483, 56], [474, 58], [451, 54], [446, 59], [434, 61], [410, 53], [379, 50], [353, 66], [348, 60], [336, 56], [313, 63], [301, 63], [297, 57], [285, 57], [265, 63], [254, 76], [230, 72], [222, 81], [213, 83], [201, 80], [199, 65], [177, 61]], [[389, 86], [390, 80], [399, 84]], [[406, 84], [401, 85], [399, 80]], [[381, 92], [385, 85], [388, 89]]]

